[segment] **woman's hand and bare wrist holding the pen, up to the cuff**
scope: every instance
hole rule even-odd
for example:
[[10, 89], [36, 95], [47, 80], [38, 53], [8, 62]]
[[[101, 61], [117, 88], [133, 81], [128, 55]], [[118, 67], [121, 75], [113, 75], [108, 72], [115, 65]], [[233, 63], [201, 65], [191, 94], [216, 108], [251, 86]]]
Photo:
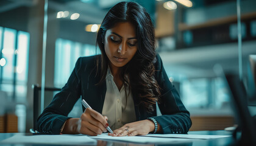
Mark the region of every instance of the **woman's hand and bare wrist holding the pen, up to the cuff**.
[[102, 132], [107, 132], [107, 117], [102, 116], [97, 111], [87, 108], [80, 118], [71, 118], [66, 120], [63, 127], [63, 134], [88, 134], [97, 136]]

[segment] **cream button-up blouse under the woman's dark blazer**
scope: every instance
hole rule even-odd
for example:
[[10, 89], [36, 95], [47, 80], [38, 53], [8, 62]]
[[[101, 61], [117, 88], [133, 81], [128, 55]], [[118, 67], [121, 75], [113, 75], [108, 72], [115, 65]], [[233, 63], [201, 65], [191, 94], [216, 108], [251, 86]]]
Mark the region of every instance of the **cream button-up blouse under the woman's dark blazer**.
[[135, 122], [135, 108], [132, 98], [132, 92], [126, 87], [127, 92], [127, 105], [126, 105], [126, 92], [124, 84], [121, 90], [118, 90], [113, 75], [108, 68], [106, 76], [107, 91], [105, 94], [102, 115], [108, 117], [108, 125], [112, 130], [122, 127], [126, 123]]

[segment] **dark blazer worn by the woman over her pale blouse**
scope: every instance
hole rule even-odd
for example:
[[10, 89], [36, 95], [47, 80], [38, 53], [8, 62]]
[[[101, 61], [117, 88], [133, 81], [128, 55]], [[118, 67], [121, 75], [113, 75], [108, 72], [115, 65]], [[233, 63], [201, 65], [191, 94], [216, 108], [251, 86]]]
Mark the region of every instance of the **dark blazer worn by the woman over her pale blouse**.
[[[91, 108], [102, 113], [107, 86], [105, 82], [102, 85], [96, 85], [101, 79], [100, 70], [98, 69], [99, 71], [97, 71], [96, 69], [96, 57], [80, 57], [77, 60], [66, 85], [54, 96], [52, 102], [38, 117], [36, 123], [37, 131], [46, 134], [59, 134], [62, 125], [67, 119], [71, 118], [68, 117], [68, 113], [80, 96], [88, 102]], [[154, 117], [161, 125], [163, 134], [187, 133], [191, 127], [190, 113], [180, 100], [179, 93], [174, 88], [174, 85], [169, 82], [158, 54], [154, 65], [155, 78], [161, 89], [160, 104], [158, 106], [163, 115], [157, 116], [156, 110], [148, 113], [139, 104], [139, 98], [133, 94], [137, 120]], [[96, 73], [98, 73], [97, 76]]]

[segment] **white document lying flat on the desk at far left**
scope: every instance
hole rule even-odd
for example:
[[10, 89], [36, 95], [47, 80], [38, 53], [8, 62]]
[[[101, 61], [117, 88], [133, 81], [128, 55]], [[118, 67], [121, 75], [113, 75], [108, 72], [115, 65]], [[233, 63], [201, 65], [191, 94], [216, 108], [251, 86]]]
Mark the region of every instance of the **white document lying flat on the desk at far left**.
[[15, 134], [4, 139], [0, 144], [58, 144], [58, 145], [96, 145], [97, 141], [82, 134], [62, 134], [62, 135], [33, 135], [25, 136]]

